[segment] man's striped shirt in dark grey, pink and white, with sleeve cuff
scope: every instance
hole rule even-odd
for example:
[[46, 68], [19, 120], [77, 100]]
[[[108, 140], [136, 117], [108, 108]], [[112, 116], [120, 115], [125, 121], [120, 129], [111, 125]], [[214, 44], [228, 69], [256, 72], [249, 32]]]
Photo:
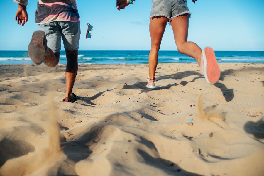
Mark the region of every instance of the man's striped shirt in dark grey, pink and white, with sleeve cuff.
[[[28, 0], [13, 0], [26, 6]], [[75, 0], [38, 0], [35, 13], [36, 24], [45, 24], [53, 21], [80, 22], [80, 16]]]

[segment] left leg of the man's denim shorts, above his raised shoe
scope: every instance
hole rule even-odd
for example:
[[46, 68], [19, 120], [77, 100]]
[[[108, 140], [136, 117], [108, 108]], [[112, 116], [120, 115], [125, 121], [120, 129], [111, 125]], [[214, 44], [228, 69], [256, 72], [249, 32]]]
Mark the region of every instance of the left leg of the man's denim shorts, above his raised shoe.
[[48, 40], [47, 46], [54, 53], [60, 53], [61, 48], [61, 31], [60, 27], [53, 23], [46, 23], [38, 25], [39, 30], [44, 31]]

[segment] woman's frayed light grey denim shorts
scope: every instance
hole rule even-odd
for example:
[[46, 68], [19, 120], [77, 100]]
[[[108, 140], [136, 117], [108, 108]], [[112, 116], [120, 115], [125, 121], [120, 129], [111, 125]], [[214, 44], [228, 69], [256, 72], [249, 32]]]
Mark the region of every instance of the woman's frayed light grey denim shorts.
[[187, 0], [152, 0], [150, 18], [165, 16], [170, 22], [172, 18], [184, 14], [188, 14], [191, 17]]

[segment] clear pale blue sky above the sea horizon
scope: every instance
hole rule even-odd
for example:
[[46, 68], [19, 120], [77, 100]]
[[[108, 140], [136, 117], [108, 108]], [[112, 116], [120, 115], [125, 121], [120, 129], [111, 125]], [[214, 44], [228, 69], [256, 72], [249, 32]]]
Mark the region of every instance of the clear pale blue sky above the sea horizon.
[[[264, 51], [263, 0], [187, 2], [192, 12], [189, 41], [218, 51]], [[77, 0], [82, 31], [79, 50], [150, 50], [151, 0], [136, 0], [121, 11], [116, 9], [115, 3], [115, 0]], [[29, 19], [25, 26], [17, 25], [14, 20], [16, 3], [1, 0], [0, 6], [0, 50], [27, 50], [32, 33], [38, 30], [36, 0], [29, 0]], [[86, 23], [94, 26], [91, 39], [85, 39]], [[169, 25], [160, 50], [177, 50]]]

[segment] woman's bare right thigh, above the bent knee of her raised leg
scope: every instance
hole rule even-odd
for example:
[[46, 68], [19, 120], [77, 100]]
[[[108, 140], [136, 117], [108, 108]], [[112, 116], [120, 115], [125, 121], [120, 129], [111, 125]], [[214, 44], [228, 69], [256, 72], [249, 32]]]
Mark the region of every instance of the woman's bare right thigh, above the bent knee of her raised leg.
[[176, 45], [186, 42], [188, 40], [189, 15], [185, 14], [172, 18], [170, 24]]

